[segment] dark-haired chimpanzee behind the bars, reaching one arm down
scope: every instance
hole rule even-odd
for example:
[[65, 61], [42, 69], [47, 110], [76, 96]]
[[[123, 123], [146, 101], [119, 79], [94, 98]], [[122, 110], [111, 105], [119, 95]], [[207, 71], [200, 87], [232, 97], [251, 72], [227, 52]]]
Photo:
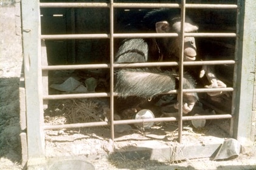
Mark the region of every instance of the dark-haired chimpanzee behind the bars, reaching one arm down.
[[[181, 31], [180, 13], [173, 9], [151, 10], [140, 21], [141, 32], [179, 33]], [[198, 26], [185, 17], [184, 31], [195, 32]], [[116, 63], [178, 61], [180, 37], [175, 38], [134, 38], [125, 39], [115, 55]], [[196, 59], [195, 38], [184, 38], [184, 60]], [[195, 81], [184, 73], [185, 89], [195, 88]], [[116, 70], [114, 90], [119, 94], [117, 110], [125, 107], [135, 108], [141, 102], [178, 88], [178, 68], [121, 68]], [[183, 113], [192, 111], [198, 100], [196, 93], [184, 93]], [[176, 103], [176, 106], [178, 103]]]

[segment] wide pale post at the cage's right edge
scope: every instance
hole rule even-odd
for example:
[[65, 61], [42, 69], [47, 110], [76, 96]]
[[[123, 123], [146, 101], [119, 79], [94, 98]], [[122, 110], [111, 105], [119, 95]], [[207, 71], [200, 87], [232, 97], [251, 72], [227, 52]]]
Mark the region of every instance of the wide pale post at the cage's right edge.
[[[234, 99], [232, 114], [232, 136], [242, 145], [247, 145], [251, 139], [252, 128], [252, 101], [254, 90], [255, 71], [255, 17], [254, 0], [238, 1], [237, 39], [234, 74]], [[251, 139], [252, 140], [252, 139]]]

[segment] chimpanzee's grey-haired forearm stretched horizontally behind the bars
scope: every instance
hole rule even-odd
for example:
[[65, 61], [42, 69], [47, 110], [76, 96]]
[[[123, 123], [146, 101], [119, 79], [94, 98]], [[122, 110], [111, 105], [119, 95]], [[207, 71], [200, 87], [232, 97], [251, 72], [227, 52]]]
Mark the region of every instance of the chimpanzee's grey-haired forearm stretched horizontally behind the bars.
[[119, 70], [115, 90], [121, 97], [150, 98], [174, 90], [175, 86], [175, 77], [169, 71], [161, 73], [153, 68], [137, 68]]

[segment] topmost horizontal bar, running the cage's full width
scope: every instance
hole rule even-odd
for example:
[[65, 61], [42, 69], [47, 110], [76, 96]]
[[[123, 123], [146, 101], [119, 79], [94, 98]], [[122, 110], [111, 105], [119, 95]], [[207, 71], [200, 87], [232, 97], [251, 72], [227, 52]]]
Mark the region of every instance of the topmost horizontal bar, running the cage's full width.
[[[109, 8], [104, 2], [41, 2], [41, 8]], [[113, 3], [114, 8], [181, 8], [180, 4], [159, 3]], [[236, 9], [234, 4], [185, 4], [185, 8]]]

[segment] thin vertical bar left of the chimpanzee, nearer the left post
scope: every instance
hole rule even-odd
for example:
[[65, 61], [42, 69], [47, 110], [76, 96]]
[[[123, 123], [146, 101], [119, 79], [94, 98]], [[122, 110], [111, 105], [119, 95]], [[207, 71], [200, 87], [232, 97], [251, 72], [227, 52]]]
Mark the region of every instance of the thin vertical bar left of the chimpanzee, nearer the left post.
[[111, 112], [111, 139], [114, 141], [114, 7], [110, 1], [110, 112]]

